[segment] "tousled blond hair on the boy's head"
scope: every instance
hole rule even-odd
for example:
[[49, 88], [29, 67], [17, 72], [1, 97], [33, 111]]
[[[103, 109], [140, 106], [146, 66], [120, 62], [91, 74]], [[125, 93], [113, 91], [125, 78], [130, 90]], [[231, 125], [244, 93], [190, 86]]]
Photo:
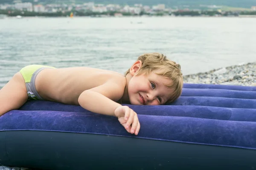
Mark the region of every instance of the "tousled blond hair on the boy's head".
[[[158, 75], [166, 77], [172, 81], [172, 84], [166, 85], [168, 88], [174, 89], [172, 96], [169, 97], [167, 102], [175, 101], [182, 93], [183, 75], [180, 70], [180, 65], [174, 61], [167, 59], [167, 57], [160, 53], [146, 53], [138, 57], [137, 61], [142, 62], [142, 66], [137, 75], [150, 74], [151, 71], [157, 71]], [[125, 72], [125, 76], [130, 73], [129, 68]]]

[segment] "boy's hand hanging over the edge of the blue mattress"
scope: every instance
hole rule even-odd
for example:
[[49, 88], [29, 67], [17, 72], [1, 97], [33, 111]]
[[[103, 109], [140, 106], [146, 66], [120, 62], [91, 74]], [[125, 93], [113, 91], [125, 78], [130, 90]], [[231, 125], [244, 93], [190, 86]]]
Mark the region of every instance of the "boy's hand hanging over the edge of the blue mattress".
[[131, 108], [128, 106], [119, 106], [114, 111], [116, 117], [118, 117], [119, 122], [125, 129], [131, 133], [137, 135], [140, 130], [140, 122], [137, 116]]

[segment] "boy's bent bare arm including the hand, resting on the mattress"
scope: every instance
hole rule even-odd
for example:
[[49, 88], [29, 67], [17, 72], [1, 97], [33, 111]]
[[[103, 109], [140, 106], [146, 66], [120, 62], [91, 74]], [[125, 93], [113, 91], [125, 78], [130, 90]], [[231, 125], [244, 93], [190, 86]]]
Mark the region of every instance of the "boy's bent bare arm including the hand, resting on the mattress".
[[126, 83], [120, 80], [108, 81], [81, 93], [78, 102], [88, 111], [118, 117], [119, 122], [129, 133], [137, 135], [140, 130], [137, 113], [128, 106], [114, 102], [122, 97], [125, 85]]

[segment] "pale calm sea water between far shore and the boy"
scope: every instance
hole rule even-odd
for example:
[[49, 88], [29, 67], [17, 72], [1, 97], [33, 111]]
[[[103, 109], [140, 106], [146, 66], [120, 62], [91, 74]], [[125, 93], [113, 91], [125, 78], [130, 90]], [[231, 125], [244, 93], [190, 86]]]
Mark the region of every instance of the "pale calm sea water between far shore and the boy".
[[125, 72], [140, 54], [164, 53], [194, 74], [256, 61], [256, 18], [0, 19], [0, 88], [25, 65]]

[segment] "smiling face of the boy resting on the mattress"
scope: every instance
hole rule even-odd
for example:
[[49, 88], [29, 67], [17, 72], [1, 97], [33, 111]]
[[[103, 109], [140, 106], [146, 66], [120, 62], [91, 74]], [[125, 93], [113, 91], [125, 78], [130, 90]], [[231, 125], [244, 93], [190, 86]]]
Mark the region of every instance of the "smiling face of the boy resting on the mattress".
[[171, 80], [154, 72], [134, 75], [128, 83], [130, 102], [132, 105], [163, 105], [173, 93], [173, 89], [165, 85], [171, 83]]

